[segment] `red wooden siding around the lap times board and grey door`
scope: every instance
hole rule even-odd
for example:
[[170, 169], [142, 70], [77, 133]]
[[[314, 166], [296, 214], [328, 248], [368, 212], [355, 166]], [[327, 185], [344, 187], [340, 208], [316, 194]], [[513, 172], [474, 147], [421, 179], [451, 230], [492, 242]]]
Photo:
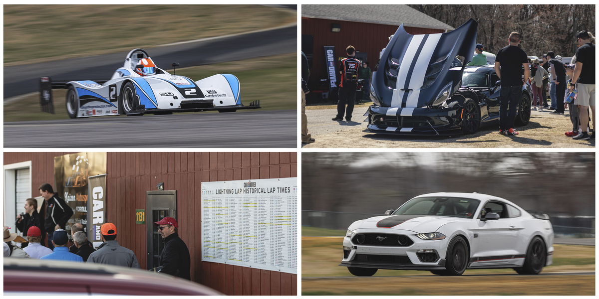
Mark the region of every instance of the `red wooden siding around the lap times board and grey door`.
[[[4, 164], [32, 161], [32, 190], [53, 183], [54, 157], [63, 152], [5, 152]], [[146, 191], [177, 190], [179, 234], [191, 256], [191, 279], [227, 295], [297, 295], [297, 274], [201, 261], [201, 183], [297, 177], [296, 152], [107, 152], [107, 221], [120, 245], [146, 269]], [[32, 193], [34, 196], [39, 194]]]

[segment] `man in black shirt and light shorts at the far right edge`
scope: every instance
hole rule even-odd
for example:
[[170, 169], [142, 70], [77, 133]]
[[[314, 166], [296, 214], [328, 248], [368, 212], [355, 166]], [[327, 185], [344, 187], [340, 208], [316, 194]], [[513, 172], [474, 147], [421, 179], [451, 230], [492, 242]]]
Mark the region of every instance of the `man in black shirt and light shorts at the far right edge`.
[[[595, 45], [591, 43], [591, 35], [585, 30], [576, 35], [579, 48], [576, 50], [576, 67], [572, 82], [576, 83], [578, 94], [576, 96], [576, 105], [580, 108], [580, 132], [572, 139], [586, 140], [595, 138]], [[578, 81], [578, 82], [576, 82]], [[574, 89], [574, 84], [570, 89]], [[588, 134], [589, 115], [588, 106], [591, 106], [593, 114], [593, 135]]]

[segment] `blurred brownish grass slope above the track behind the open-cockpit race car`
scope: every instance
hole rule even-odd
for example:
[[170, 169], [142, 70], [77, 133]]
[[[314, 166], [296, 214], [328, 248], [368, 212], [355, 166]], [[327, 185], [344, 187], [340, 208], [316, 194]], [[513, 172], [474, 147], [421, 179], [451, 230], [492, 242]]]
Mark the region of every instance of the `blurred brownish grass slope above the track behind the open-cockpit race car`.
[[264, 5], [4, 5], [4, 66], [151, 48], [295, 22], [297, 11]]

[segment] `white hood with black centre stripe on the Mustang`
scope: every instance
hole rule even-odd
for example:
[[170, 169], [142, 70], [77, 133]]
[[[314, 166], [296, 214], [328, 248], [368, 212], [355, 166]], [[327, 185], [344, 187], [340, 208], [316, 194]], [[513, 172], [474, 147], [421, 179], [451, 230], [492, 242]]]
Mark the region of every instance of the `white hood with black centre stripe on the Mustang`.
[[391, 215], [376, 216], [354, 222], [348, 229], [387, 228], [389, 230], [410, 230], [415, 233], [434, 233], [441, 226], [465, 218], [432, 215]]

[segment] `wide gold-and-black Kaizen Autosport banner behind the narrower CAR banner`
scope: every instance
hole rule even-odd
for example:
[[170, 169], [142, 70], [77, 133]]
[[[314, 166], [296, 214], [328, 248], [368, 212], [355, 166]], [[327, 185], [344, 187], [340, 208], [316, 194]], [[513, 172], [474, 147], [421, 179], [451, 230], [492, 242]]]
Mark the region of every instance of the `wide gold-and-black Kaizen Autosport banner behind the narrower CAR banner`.
[[[87, 195], [89, 177], [106, 173], [106, 152], [78, 152], [54, 158], [54, 191], [73, 210], [66, 222], [66, 230], [75, 223], [83, 224], [87, 230]], [[105, 179], [104, 179], [105, 186]], [[90, 239], [90, 242], [93, 240]]]

